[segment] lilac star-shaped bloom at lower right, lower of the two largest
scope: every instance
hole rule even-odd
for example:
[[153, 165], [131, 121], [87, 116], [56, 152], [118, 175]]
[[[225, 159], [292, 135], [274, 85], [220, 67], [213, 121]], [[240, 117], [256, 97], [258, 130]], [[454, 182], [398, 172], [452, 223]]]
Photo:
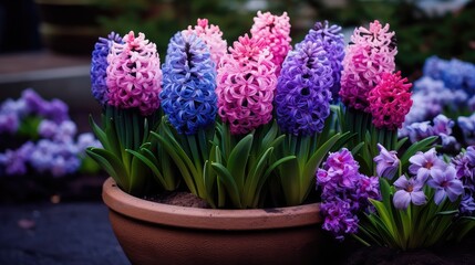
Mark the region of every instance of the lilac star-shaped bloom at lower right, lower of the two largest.
[[447, 167], [445, 171], [435, 169], [427, 184], [435, 189], [434, 202], [437, 205], [441, 204], [445, 198], [454, 202], [464, 193], [462, 181], [456, 178], [456, 170], [452, 166]]

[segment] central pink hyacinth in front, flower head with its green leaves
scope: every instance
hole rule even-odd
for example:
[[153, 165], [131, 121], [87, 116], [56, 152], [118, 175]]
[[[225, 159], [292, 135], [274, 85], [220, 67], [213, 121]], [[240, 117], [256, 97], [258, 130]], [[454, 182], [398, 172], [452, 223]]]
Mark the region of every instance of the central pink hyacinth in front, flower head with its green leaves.
[[[216, 155], [210, 166], [218, 181], [218, 206], [230, 200], [234, 208], [257, 208], [264, 203], [261, 190], [273, 169], [292, 157], [272, 153], [285, 137], [272, 120], [277, 85], [272, 53], [262, 39], [248, 35], [240, 36], [229, 52], [217, 75], [223, 123], [216, 128]], [[228, 195], [219, 187], [226, 188]]]

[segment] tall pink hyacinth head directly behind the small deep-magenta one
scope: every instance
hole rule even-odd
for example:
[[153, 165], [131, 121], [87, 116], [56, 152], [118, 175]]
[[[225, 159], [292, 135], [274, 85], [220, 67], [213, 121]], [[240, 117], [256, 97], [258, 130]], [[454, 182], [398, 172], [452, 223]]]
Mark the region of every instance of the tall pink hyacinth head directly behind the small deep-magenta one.
[[369, 30], [363, 26], [354, 30], [341, 75], [340, 96], [345, 105], [368, 113], [368, 94], [383, 73], [394, 72], [397, 47], [394, 31], [389, 32], [389, 28], [375, 20]]

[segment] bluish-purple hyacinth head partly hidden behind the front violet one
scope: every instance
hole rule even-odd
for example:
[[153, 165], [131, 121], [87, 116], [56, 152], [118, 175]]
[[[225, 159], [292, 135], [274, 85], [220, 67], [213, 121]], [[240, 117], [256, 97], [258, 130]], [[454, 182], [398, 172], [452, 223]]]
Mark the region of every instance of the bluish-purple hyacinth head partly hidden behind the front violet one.
[[337, 100], [340, 91], [341, 71], [343, 70], [342, 61], [344, 59], [344, 36], [341, 33], [341, 26], [332, 24], [326, 20], [317, 22], [313, 29], [304, 36], [303, 42], [319, 42], [323, 43], [323, 50], [327, 52], [328, 60], [330, 61], [333, 85], [330, 87], [332, 99]]

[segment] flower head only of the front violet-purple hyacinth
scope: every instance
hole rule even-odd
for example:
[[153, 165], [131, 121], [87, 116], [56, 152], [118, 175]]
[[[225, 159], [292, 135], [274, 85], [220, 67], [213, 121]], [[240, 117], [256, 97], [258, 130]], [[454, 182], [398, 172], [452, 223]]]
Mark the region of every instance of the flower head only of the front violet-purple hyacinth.
[[331, 62], [323, 42], [304, 42], [290, 51], [277, 82], [277, 123], [285, 132], [312, 135], [330, 115]]

